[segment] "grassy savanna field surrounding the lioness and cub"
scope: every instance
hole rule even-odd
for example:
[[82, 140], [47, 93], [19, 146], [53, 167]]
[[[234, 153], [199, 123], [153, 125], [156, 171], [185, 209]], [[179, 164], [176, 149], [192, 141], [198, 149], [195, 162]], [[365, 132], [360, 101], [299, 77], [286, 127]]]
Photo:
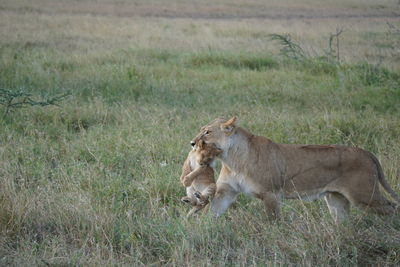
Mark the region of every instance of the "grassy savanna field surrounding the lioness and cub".
[[322, 200], [285, 201], [270, 223], [240, 196], [187, 220], [179, 201], [189, 141], [232, 115], [367, 149], [400, 193], [399, 16], [388, 0], [0, 0], [0, 89], [69, 94], [0, 105], [0, 265], [399, 265], [399, 216], [335, 225]]

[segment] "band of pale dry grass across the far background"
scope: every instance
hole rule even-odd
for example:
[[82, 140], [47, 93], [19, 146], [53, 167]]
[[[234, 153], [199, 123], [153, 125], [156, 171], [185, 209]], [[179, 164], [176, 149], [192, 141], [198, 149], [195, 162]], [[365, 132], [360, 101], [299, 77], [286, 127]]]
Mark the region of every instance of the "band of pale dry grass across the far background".
[[[398, 26], [400, 7], [393, 1], [379, 5], [372, 1], [304, 1], [295, 5], [210, 1], [202, 7], [196, 1], [171, 5], [163, 1], [2, 2], [2, 42], [10, 45], [55, 46], [74, 53], [110, 48], [275, 52], [276, 45], [268, 35], [289, 33], [309, 51], [320, 53], [328, 47], [329, 34], [340, 28], [344, 30], [340, 47], [344, 60], [385, 62], [390, 67], [399, 61], [400, 37], [388, 26]], [[202, 10], [204, 6], [211, 10]], [[142, 8], [162, 11], [152, 15]], [[120, 14], [124, 12], [127, 14]], [[193, 13], [198, 19], [191, 18]], [[208, 18], [219, 13], [221, 19]], [[265, 17], [258, 18], [259, 13]], [[241, 14], [247, 14], [245, 19], [238, 19]]]

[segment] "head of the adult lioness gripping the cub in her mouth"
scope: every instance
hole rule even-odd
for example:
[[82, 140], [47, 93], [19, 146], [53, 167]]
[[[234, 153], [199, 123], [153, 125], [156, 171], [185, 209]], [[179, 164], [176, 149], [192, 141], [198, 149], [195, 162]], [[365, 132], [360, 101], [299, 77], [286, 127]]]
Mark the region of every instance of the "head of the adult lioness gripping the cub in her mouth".
[[236, 131], [236, 117], [229, 120], [216, 119], [210, 124], [201, 127], [200, 133], [190, 142], [194, 147], [200, 140], [213, 144], [225, 151], [229, 146], [229, 137]]

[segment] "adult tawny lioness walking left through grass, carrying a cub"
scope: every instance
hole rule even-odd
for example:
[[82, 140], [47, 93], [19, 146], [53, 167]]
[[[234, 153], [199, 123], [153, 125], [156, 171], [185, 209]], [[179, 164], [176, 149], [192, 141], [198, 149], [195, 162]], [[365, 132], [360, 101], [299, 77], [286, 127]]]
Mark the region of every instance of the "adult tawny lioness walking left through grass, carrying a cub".
[[277, 144], [236, 126], [236, 117], [216, 119], [191, 141], [214, 144], [223, 152], [222, 169], [211, 211], [221, 215], [243, 192], [265, 203], [269, 214], [280, 215], [285, 198], [325, 197], [335, 221], [346, 218], [350, 203], [379, 214], [396, 205], [379, 191], [379, 184], [400, 203], [386, 181], [381, 165], [370, 152], [339, 145]]

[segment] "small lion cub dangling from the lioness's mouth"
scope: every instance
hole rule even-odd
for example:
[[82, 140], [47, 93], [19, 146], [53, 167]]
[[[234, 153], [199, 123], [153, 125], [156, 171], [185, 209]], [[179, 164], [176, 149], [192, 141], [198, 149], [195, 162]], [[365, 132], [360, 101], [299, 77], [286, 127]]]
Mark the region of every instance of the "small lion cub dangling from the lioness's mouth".
[[203, 140], [200, 140], [197, 147], [189, 152], [180, 178], [186, 187], [187, 194], [181, 200], [193, 205], [188, 216], [203, 209], [208, 204], [209, 198], [214, 196], [216, 191], [214, 159], [221, 153], [221, 149], [206, 144]]

